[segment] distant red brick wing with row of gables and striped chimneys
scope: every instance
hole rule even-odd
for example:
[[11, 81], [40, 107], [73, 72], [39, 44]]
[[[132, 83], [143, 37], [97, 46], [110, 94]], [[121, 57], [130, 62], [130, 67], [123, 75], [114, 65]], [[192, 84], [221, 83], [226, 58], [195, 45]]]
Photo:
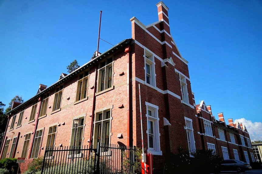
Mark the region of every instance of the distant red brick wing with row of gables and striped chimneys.
[[206, 106], [204, 100], [196, 105], [196, 111], [201, 149], [213, 149], [223, 159], [256, 162], [249, 133], [242, 123], [234, 124], [230, 118], [227, 125], [223, 113], [218, 113], [219, 120], [216, 120], [212, 115], [211, 106]]

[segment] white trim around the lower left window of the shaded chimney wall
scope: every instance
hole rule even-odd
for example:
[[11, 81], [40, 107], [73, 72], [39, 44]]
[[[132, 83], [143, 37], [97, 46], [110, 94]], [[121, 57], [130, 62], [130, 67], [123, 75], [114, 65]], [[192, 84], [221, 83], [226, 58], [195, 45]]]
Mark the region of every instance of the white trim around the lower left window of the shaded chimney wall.
[[[159, 117], [158, 117], [158, 106], [157, 105], [154, 105], [152, 103], [148, 103], [148, 102], [145, 102], [145, 105], [147, 107], [147, 110], [148, 108], [150, 108], [151, 110], [154, 110], [154, 113], [156, 114], [156, 117], [151, 117], [149, 115], [147, 115], [146, 113], [146, 117], [147, 117], [147, 123], [148, 123], [148, 120], [150, 119], [154, 119], [155, 120], [155, 128], [154, 128], [154, 131], [156, 131], [155, 135], [157, 137], [155, 137], [155, 143], [154, 145], [156, 146], [155, 147], [155, 150], [153, 149], [147, 149], [147, 153], [152, 153], [153, 155], [162, 155], [162, 151], [160, 149], [160, 133], [159, 133]], [[157, 127], [156, 127], [157, 126]], [[148, 134], [148, 126], [147, 126], [147, 144], [149, 144], [149, 134]]]

